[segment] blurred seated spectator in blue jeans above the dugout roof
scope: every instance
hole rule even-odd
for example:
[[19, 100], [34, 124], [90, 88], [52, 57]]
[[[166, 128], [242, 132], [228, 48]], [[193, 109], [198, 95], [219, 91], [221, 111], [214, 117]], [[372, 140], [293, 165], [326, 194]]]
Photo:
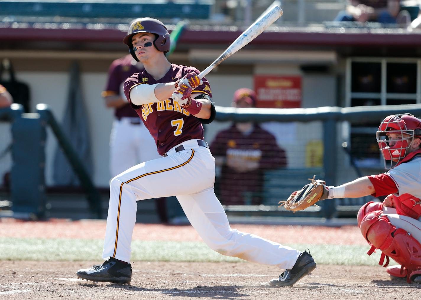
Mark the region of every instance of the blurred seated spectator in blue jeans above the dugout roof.
[[401, 10], [400, 0], [350, 0], [335, 21], [375, 21], [408, 26], [411, 18], [407, 10]]

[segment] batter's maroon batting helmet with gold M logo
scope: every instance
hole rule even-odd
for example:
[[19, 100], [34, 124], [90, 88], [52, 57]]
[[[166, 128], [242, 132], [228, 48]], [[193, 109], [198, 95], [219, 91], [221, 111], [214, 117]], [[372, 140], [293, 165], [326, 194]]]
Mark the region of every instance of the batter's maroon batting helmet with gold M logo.
[[170, 50], [170, 34], [168, 33], [165, 25], [161, 21], [154, 18], [139, 18], [131, 23], [129, 31], [123, 39], [123, 43], [129, 47], [129, 52], [135, 60], [139, 61], [139, 59], [136, 57], [136, 54], [134, 53], [133, 45], [131, 42], [133, 35], [140, 32], [155, 34], [156, 39], [154, 41], [154, 46], [158, 51], [164, 52], [165, 54]]

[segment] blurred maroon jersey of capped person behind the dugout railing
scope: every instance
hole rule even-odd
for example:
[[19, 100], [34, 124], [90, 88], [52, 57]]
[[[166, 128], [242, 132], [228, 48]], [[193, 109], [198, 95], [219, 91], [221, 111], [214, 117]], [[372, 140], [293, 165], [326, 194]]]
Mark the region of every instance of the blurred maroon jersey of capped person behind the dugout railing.
[[226, 157], [226, 162], [236, 158], [258, 162], [256, 170], [241, 173], [226, 163], [222, 166], [218, 198], [225, 205], [245, 204], [245, 192], [251, 192], [251, 204], [260, 204], [264, 170], [286, 166], [285, 151], [271, 133], [257, 124], [248, 135], [241, 133], [235, 124], [221, 131], [210, 145], [210, 152]]

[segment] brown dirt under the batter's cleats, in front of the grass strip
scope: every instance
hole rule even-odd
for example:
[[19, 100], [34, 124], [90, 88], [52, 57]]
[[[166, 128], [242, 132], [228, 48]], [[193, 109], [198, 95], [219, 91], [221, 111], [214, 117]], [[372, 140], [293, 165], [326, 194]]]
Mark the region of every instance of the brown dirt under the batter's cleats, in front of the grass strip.
[[98, 262], [0, 261], [0, 299], [419, 299], [420, 285], [391, 281], [378, 266], [319, 265], [293, 287], [269, 287], [279, 271], [255, 263], [134, 262], [128, 284], [77, 279]]

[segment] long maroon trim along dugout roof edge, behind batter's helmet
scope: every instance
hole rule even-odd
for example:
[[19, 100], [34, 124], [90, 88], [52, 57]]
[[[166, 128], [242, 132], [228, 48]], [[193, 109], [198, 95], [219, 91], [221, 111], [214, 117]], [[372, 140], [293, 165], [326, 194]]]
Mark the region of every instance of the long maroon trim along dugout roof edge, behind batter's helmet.
[[[229, 46], [241, 34], [239, 31], [192, 31], [182, 34], [180, 43], [224, 44]], [[125, 32], [104, 29], [32, 29], [1, 28], [0, 40], [16, 41], [21, 39], [37, 41], [67, 42], [121, 42]], [[264, 32], [251, 44], [279, 45], [339, 45], [339, 46], [421, 46], [420, 34], [373, 34], [373, 33], [324, 33], [324, 32]]]

